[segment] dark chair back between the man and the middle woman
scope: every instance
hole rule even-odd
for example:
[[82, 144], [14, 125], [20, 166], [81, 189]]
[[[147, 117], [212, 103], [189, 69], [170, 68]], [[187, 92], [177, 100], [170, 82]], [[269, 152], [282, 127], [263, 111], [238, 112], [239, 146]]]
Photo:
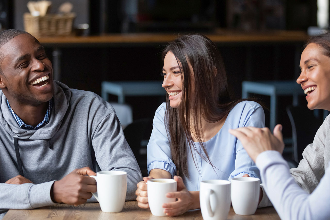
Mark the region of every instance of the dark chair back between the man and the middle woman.
[[152, 119], [134, 120], [124, 128], [124, 135], [140, 166], [143, 176], [147, 176], [147, 143], [152, 131]]

